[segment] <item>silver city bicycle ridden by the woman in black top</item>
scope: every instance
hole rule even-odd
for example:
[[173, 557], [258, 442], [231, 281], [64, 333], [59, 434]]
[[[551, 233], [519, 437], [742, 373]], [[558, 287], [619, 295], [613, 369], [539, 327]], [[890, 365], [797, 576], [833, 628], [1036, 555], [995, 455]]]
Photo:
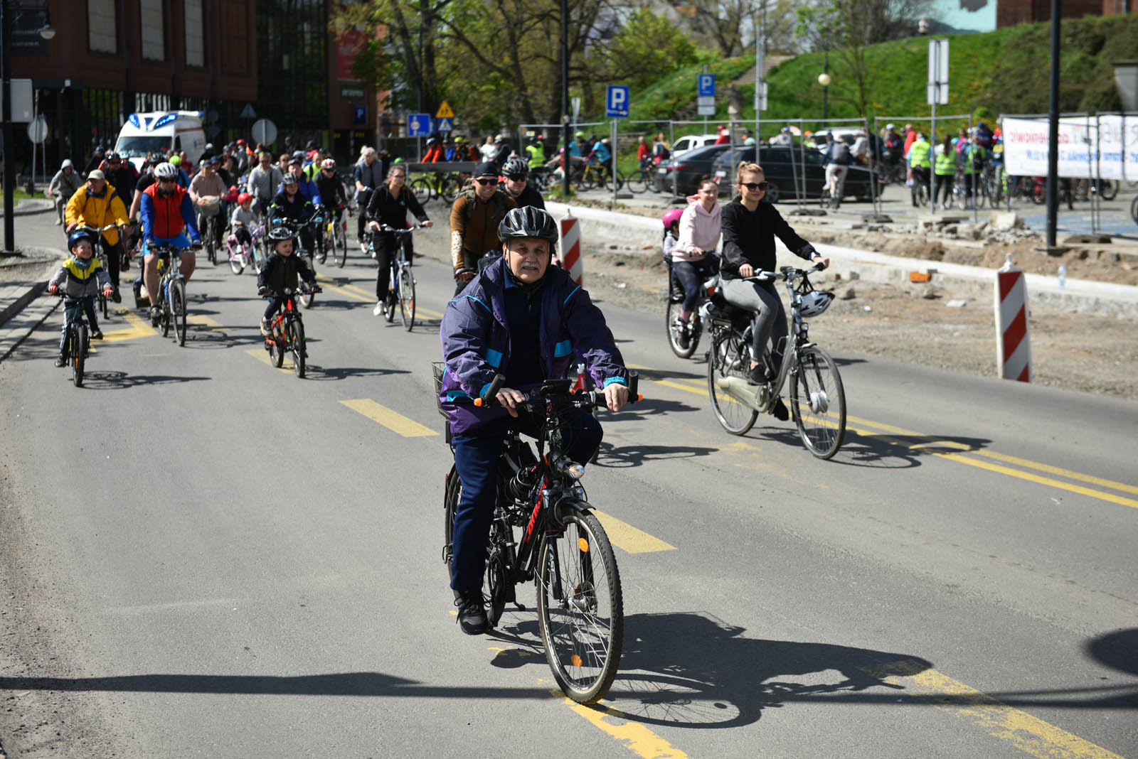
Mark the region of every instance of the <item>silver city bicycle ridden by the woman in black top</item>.
[[[708, 393], [711, 409], [723, 428], [733, 435], [745, 434], [759, 414], [773, 410], [783, 385], [790, 382], [790, 414], [802, 444], [810, 453], [828, 459], [846, 437], [846, 393], [838, 365], [830, 355], [810, 342], [803, 318], [820, 315], [833, 300], [832, 292], [815, 290], [809, 275], [818, 267], [780, 272], [759, 272], [747, 282], [783, 281], [790, 293], [787, 315], [791, 339], [777, 364], [769, 345], [759, 358], [774, 378], [760, 385], [748, 382], [751, 367], [752, 314], [726, 301], [708, 301], [702, 307], [711, 328], [708, 350]], [[786, 340], [786, 339], [783, 339]]]

